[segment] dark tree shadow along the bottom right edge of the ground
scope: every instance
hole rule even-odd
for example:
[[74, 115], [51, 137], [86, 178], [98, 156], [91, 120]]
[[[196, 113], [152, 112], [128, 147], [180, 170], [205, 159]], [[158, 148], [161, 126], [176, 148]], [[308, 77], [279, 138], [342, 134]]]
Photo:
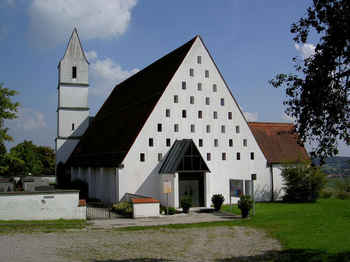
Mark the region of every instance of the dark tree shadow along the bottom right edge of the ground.
[[[103, 262], [106, 260], [91, 260], [90, 262]], [[185, 261], [185, 260], [168, 260], [154, 258], [130, 258], [122, 260], [108, 260], [109, 262], [167, 262], [167, 261]], [[205, 260], [198, 259], [198, 262]], [[282, 251], [272, 250], [259, 255], [252, 256], [236, 256], [215, 259], [211, 261], [217, 262], [239, 262], [239, 261], [270, 261], [270, 262], [350, 262], [350, 251], [338, 254], [328, 254], [322, 250], [310, 249], [287, 249]]]

